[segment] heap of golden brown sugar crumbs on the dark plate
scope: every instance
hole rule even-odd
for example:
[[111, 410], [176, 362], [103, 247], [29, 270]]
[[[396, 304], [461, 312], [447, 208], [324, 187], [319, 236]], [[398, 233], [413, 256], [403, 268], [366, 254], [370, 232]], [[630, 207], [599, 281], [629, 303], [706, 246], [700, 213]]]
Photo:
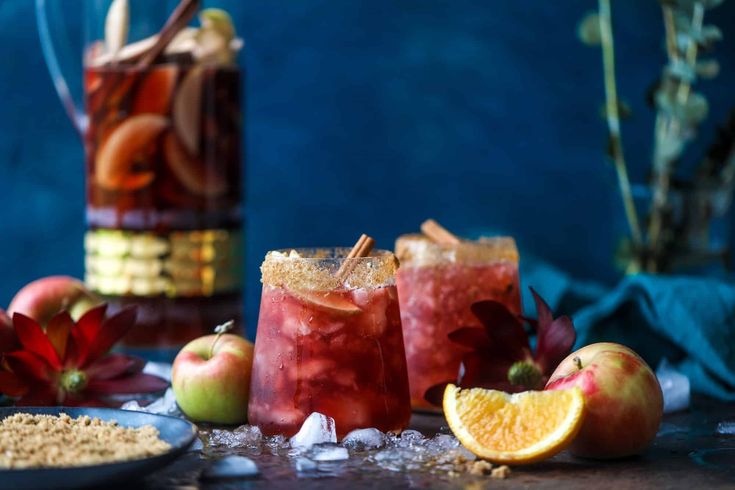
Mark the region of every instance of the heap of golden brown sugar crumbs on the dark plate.
[[0, 421], [0, 468], [87, 466], [162, 454], [158, 429], [120, 427], [86, 415], [17, 413]]

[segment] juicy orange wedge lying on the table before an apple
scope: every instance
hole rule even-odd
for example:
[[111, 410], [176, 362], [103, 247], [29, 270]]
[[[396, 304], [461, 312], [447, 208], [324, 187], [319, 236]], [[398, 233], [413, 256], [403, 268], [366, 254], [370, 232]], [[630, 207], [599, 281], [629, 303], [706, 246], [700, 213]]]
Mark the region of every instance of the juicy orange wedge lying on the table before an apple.
[[553, 456], [572, 442], [584, 418], [579, 388], [509, 395], [450, 384], [443, 405], [449, 427], [467, 449], [503, 464]]

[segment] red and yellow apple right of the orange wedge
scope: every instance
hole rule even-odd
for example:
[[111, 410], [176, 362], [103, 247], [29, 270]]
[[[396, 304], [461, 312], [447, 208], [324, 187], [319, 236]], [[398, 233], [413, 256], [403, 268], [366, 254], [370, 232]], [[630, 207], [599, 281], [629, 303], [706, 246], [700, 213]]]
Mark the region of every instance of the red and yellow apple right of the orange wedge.
[[609, 459], [651, 444], [663, 414], [663, 395], [648, 364], [624, 345], [602, 342], [573, 352], [549, 378], [547, 390], [579, 386], [585, 419], [572, 454]]

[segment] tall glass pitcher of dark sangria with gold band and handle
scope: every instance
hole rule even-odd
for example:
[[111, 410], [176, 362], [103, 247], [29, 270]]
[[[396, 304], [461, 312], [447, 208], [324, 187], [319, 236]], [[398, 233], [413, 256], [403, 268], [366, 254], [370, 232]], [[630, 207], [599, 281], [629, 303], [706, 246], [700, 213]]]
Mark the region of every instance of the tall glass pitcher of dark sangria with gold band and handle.
[[[226, 11], [199, 1], [87, 0], [71, 19], [78, 6], [36, 0], [84, 141], [85, 282], [113, 311], [138, 306], [123, 349], [170, 360], [215, 325], [241, 328], [242, 41]], [[78, 32], [81, 53], [54, 42]], [[79, 91], [62, 70], [82, 72]]]

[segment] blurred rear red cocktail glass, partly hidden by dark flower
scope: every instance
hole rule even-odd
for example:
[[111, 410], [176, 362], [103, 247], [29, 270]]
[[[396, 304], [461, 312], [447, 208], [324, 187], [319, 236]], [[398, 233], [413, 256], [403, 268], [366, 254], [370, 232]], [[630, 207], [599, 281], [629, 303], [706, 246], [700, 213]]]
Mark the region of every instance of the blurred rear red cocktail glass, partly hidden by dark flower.
[[518, 251], [512, 238], [439, 245], [423, 235], [405, 235], [396, 242], [396, 255], [411, 406], [434, 410], [426, 390], [455, 382], [467, 352], [447, 335], [482, 326], [472, 303], [492, 299], [520, 313]]

